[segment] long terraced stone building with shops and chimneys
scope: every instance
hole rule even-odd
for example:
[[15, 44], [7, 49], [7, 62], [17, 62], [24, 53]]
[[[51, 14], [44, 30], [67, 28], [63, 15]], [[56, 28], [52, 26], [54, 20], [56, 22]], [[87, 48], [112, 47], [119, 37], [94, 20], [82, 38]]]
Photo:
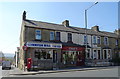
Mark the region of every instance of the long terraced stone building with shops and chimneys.
[[118, 31], [100, 31], [99, 26], [91, 29], [73, 27], [68, 20], [61, 24], [29, 20], [24, 11], [20, 33], [20, 68], [27, 66], [29, 58], [31, 69], [108, 66], [118, 50], [119, 34]]

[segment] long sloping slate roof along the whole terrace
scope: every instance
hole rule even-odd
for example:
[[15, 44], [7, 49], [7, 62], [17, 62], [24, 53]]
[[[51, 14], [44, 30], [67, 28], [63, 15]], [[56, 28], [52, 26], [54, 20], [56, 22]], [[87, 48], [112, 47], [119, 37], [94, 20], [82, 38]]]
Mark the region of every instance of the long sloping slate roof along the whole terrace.
[[[86, 30], [85, 28], [79, 28], [79, 27], [73, 27], [73, 26], [65, 27], [62, 24], [54, 24], [54, 23], [34, 21], [34, 20], [25, 20], [24, 23], [26, 26], [29, 26], [29, 27], [66, 31], [66, 32], [73, 32], [73, 33], [80, 33], [80, 34], [85, 34], [85, 30]], [[87, 34], [114, 37], [114, 38], [118, 37], [117, 34], [112, 32], [94, 31], [92, 29], [87, 29]]]

